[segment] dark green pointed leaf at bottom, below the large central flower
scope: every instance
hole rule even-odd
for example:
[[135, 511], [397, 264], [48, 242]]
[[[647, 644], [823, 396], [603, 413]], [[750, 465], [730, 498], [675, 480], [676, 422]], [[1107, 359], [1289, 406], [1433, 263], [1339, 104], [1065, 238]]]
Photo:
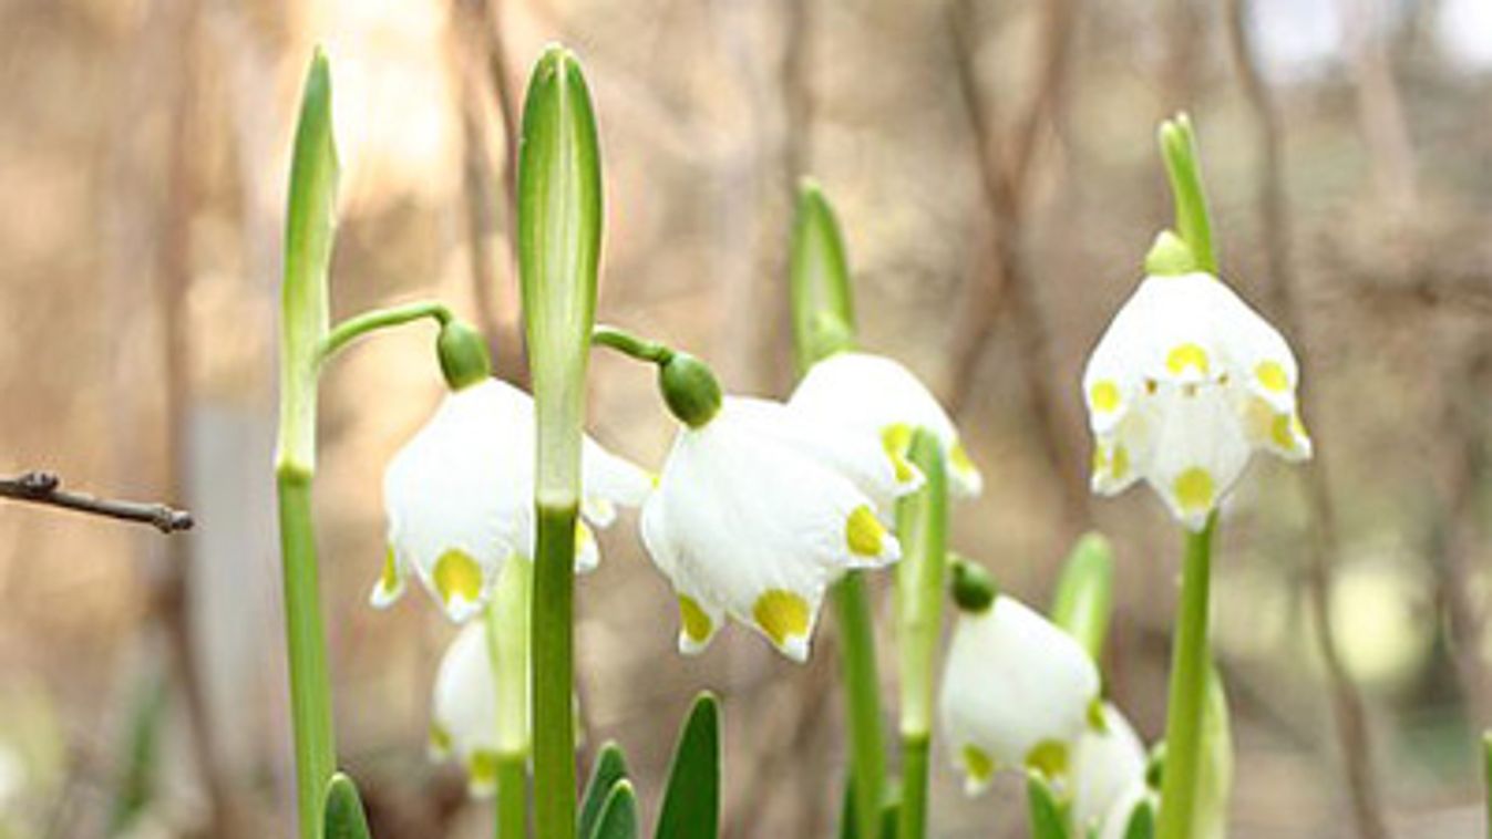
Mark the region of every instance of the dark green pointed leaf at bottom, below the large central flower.
[[668, 769], [656, 839], [710, 839], [721, 830], [719, 700], [701, 693], [689, 709]]

